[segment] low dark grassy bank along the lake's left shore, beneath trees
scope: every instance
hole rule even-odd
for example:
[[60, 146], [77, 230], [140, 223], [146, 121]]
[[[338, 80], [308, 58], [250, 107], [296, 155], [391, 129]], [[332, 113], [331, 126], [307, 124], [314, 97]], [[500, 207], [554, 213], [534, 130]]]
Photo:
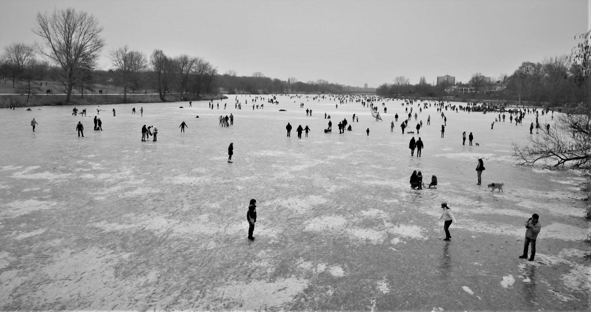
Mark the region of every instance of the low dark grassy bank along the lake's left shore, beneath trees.
[[[223, 94], [202, 94], [200, 96], [189, 96], [183, 97], [184, 101], [199, 101], [199, 100], [219, 100], [223, 98]], [[167, 102], [181, 101], [180, 94], [167, 94], [165, 97]], [[115, 94], [101, 94], [101, 95], [85, 95], [82, 98], [79, 94], [71, 97], [70, 103], [64, 104], [66, 101], [65, 94], [56, 95], [33, 95], [29, 98], [27, 103], [27, 96], [21, 95], [8, 95], [0, 96], [0, 108], [7, 108], [10, 105], [16, 107], [33, 107], [33, 106], [60, 106], [60, 105], [109, 105], [109, 104], [122, 104], [122, 103], [160, 103], [160, 96], [158, 94], [128, 94], [127, 101], [123, 100], [122, 95]]]

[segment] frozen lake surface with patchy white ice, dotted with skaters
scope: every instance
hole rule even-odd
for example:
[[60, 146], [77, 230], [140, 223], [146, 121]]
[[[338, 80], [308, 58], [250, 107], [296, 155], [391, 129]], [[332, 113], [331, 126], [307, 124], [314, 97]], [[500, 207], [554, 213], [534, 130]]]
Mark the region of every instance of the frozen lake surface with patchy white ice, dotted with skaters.
[[[375, 121], [361, 103], [336, 109], [329, 99], [278, 96], [279, 105], [237, 110], [234, 97], [213, 110], [207, 101], [101, 107], [103, 131], [90, 129], [95, 107], [79, 107], [88, 117], [72, 116], [73, 107], [0, 110], [0, 308], [589, 308], [583, 176], [511, 159], [511, 142], [526, 142], [535, 115], [515, 126], [506, 114], [491, 130], [498, 114], [444, 110], [441, 138], [434, 106], [418, 114], [417, 135], [401, 134], [399, 101], [385, 102], [388, 113], [380, 102], [384, 121]], [[141, 106], [144, 116], [131, 114]], [[325, 112], [333, 133], [323, 133]], [[217, 117], [230, 113], [233, 126], [220, 127]], [[339, 134], [344, 118], [353, 131]], [[158, 142], [141, 142], [144, 124], [158, 128]], [[298, 124], [309, 137], [297, 138]], [[480, 146], [463, 146], [464, 131]], [[420, 158], [410, 155], [412, 136], [425, 144]], [[426, 185], [437, 175], [438, 188], [411, 189], [413, 170]], [[490, 192], [491, 182], [505, 183], [504, 192]], [[251, 198], [254, 242], [246, 239]], [[450, 242], [440, 239], [441, 202], [458, 220]], [[543, 228], [528, 262], [517, 257], [533, 213]]]

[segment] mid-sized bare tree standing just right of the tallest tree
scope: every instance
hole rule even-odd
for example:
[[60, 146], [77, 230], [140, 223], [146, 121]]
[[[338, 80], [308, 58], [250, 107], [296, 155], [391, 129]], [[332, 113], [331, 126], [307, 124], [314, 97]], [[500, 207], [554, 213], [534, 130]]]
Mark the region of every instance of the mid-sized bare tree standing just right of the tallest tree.
[[137, 84], [139, 73], [145, 71], [148, 65], [146, 55], [142, 52], [129, 50], [127, 45], [109, 52], [113, 71], [117, 74], [115, 80], [123, 87], [123, 101], [127, 101], [128, 88]]

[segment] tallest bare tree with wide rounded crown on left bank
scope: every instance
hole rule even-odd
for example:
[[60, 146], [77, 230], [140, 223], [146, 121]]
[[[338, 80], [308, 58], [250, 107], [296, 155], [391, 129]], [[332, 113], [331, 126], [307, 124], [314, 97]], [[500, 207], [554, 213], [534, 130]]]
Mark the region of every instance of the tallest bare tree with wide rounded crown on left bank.
[[77, 74], [85, 65], [93, 64], [105, 46], [105, 39], [100, 37], [103, 28], [94, 15], [76, 12], [74, 8], [54, 9], [51, 16], [39, 12], [35, 22], [33, 32], [43, 38], [43, 44], [36, 44], [35, 48], [63, 69], [60, 74], [69, 102]]

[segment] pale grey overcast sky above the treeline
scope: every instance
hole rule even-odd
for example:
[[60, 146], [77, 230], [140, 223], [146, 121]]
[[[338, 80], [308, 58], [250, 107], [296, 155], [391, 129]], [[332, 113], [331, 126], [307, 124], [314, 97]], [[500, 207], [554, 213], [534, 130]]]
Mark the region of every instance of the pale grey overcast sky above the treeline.
[[523, 61], [569, 54], [590, 12], [586, 0], [0, 0], [0, 46], [39, 40], [37, 12], [68, 6], [98, 18], [103, 55], [128, 44], [147, 57], [154, 49], [203, 57], [219, 73], [369, 87], [398, 75], [415, 84], [511, 74]]

